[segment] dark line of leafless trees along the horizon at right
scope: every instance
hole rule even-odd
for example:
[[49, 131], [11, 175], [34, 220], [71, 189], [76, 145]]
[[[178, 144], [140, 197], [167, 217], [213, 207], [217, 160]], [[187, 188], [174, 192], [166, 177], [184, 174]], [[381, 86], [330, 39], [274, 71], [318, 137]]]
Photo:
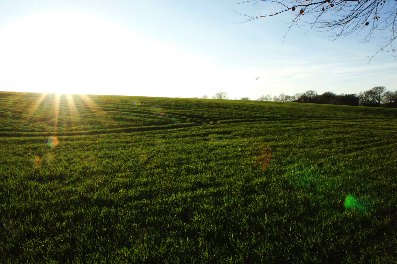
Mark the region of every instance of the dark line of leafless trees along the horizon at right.
[[324, 92], [318, 94], [316, 91], [299, 92], [294, 95], [279, 96], [271, 94], [262, 95], [258, 101], [275, 102], [297, 102], [311, 104], [340, 104], [347, 106], [373, 106], [373, 107], [390, 107], [397, 108], [397, 91], [386, 91], [384, 86], [377, 86], [370, 90], [358, 94], [335, 94], [333, 92]]

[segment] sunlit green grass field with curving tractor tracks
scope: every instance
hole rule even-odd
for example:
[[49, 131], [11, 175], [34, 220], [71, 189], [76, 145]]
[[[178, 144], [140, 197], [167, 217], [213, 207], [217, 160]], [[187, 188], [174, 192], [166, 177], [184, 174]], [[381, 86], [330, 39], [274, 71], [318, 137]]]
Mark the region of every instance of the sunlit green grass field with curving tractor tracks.
[[396, 263], [397, 109], [0, 93], [2, 263]]

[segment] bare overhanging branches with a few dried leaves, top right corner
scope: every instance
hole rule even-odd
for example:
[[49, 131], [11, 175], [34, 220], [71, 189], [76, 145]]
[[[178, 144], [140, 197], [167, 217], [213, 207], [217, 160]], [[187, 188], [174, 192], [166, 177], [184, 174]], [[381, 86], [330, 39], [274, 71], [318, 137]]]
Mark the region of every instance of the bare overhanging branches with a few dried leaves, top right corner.
[[[325, 33], [330, 40], [345, 37], [354, 32], [366, 31], [361, 42], [368, 42], [374, 37], [380, 37], [385, 41], [378, 45], [379, 50], [370, 56], [372, 58], [380, 51], [395, 52], [393, 43], [397, 38], [397, 0], [249, 0], [237, 4], [263, 2], [270, 6], [277, 6], [278, 11], [262, 15], [239, 15], [247, 17], [246, 23], [254, 19], [272, 17], [281, 13], [291, 13], [293, 18], [289, 22], [285, 36], [293, 25], [298, 26], [298, 20], [310, 25], [310, 29]], [[233, 10], [234, 11], [234, 10]], [[312, 21], [301, 19], [303, 15], [314, 17]], [[394, 56], [393, 56], [394, 57]]]

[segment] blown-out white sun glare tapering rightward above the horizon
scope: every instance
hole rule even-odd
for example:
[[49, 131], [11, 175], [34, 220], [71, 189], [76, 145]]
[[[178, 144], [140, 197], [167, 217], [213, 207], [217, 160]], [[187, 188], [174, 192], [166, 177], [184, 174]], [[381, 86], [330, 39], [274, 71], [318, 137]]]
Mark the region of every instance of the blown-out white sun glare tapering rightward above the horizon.
[[38, 13], [0, 33], [4, 91], [174, 96], [187, 88], [189, 93], [209, 93], [212, 87], [240, 91], [251, 75], [83, 13]]

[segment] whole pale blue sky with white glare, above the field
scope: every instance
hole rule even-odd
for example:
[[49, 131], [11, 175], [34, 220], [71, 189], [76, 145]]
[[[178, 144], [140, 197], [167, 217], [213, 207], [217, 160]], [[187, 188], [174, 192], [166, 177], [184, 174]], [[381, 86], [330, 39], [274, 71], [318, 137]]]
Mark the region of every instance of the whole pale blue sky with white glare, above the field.
[[282, 43], [292, 15], [239, 24], [232, 8], [266, 11], [228, 0], [2, 0], [0, 90], [256, 99], [397, 89], [392, 54], [367, 64], [381, 39], [331, 42], [304, 26]]

